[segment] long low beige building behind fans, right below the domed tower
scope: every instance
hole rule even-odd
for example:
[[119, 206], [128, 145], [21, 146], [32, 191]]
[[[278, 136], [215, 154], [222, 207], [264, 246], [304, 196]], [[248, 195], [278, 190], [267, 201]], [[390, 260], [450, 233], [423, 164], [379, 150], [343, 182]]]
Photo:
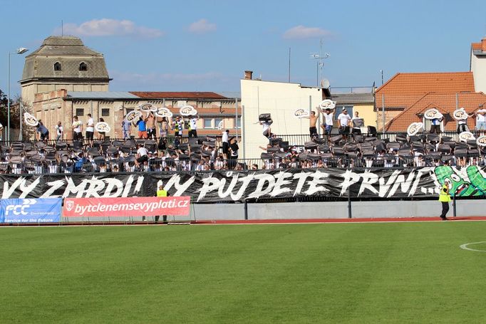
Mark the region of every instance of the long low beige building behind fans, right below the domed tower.
[[[200, 119], [197, 121], [198, 136], [221, 135], [218, 130], [221, 122], [224, 130], [230, 130], [231, 135], [240, 134], [241, 106], [234, 98], [211, 92], [90, 92], [56, 90], [49, 93], [38, 93], [33, 102], [33, 115], [43, 121], [55, 138], [55, 126], [61, 121], [64, 126], [66, 140], [73, 138], [73, 116], [77, 115], [86, 128], [88, 114], [95, 122], [102, 117], [110, 125], [110, 138], [122, 138], [121, 122], [130, 111], [138, 109], [140, 105], [150, 103], [157, 108], [165, 106], [171, 110], [174, 117], [180, 108], [192, 105], [196, 108]], [[170, 133], [171, 134], [171, 133]], [[84, 131], [83, 131], [84, 135]], [[136, 127], [132, 127], [131, 135], [137, 135]], [[187, 135], [187, 130], [183, 131]], [[95, 137], [98, 135], [95, 133]], [[157, 134], [158, 137], [158, 134]]]

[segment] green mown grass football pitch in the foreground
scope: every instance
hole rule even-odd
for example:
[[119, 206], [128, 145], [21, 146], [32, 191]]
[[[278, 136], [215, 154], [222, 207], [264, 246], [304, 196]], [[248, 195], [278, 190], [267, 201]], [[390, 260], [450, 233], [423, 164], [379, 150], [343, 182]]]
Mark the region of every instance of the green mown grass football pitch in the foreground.
[[478, 241], [485, 221], [0, 228], [0, 323], [486, 323]]

